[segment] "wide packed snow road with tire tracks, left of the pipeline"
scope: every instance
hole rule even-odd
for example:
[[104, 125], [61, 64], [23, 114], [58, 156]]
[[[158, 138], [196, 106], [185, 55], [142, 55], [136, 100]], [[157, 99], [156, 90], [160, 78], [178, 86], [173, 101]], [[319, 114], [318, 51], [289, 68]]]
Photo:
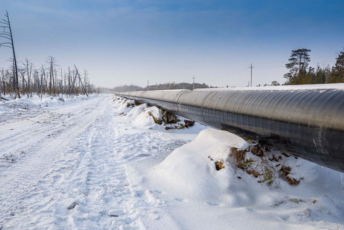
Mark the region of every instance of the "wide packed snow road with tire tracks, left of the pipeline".
[[[1, 152], [24, 156], [0, 168], [0, 229], [144, 229], [138, 207], [146, 203], [131, 190], [125, 163], [146, 156], [146, 142], [125, 154], [123, 143], [137, 137], [119, 136], [110, 99], [1, 126], [1, 137], [15, 131], [2, 138]], [[137, 135], [152, 145], [151, 135]]]

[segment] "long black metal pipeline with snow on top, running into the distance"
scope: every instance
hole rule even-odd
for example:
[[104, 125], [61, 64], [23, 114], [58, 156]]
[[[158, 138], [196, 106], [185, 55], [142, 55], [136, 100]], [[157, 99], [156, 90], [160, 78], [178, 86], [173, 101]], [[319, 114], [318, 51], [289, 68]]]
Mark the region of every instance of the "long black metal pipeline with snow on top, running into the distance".
[[116, 94], [344, 172], [344, 84]]

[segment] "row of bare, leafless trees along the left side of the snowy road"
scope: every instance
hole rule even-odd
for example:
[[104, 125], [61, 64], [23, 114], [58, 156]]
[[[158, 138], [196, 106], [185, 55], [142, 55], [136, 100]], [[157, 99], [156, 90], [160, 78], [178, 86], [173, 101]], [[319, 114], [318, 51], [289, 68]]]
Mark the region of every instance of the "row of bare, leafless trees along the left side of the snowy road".
[[[27, 96], [33, 94], [58, 95], [58, 94], [89, 94], [97, 92], [96, 87], [90, 84], [87, 70], [80, 72], [76, 65], [68, 66], [67, 71], [57, 65], [55, 57], [49, 56], [44, 64], [39, 67], [25, 58], [18, 63], [15, 69], [13, 57], [8, 68], [0, 67], [0, 95], [11, 97]], [[18, 81], [16, 79], [18, 74]]]

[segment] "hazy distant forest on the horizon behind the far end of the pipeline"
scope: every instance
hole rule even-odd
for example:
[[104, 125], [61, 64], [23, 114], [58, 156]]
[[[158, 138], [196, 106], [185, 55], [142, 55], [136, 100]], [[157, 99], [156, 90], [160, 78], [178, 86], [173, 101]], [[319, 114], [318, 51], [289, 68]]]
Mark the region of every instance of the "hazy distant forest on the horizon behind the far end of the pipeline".
[[[228, 86], [227, 86], [228, 87]], [[195, 88], [217, 88], [216, 86], [209, 86], [206, 84], [200, 84], [195, 83]], [[166, 83], [160, 83], [155, 85], [149, 85], [148, 87], [141, 87], [138, 85], [121, 85], [116, 86], [113, 88], [105, 88], [102, 87], [101, 90], [103, 92], [131, 92], [131, 91], [148, 91], [148, 90], [192, 90], [193, 89], [193, 83], [187, 83], [187, 82], [181, 82], [181, 83], [175, 83], [175, 82], [166, 82]]]

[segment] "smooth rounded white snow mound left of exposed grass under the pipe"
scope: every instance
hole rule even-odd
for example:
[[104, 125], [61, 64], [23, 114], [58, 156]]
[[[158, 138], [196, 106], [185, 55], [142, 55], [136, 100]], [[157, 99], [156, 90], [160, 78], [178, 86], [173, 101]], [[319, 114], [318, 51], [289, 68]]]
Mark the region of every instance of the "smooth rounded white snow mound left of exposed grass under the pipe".
[[210, 164], [209, 155], [219, 155], [228, 146], [246, 149], [249, 144], [242, 138], [225, 131], [205, 129], [192, 142], [175, 149], [156, 168], [157, 176], [171, 187], [176, 185], [185, 195], [208, 197], [219, 187], [225, 189], [227, 179], [223, 171], [217, 173]]

